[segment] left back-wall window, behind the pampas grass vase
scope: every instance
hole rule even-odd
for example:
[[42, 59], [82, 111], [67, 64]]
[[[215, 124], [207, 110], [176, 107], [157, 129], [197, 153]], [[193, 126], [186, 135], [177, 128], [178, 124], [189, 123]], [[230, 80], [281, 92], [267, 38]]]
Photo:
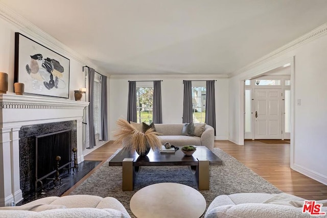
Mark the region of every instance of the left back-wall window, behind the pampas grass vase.
[[152, 123], [153, 87], [136, 88], [137, 123]]

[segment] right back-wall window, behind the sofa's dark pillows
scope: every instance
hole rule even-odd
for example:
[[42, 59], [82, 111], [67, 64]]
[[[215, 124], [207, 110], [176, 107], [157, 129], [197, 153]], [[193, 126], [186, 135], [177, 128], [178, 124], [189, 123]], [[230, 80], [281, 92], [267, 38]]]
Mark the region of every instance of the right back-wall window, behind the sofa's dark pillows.
[[192, 87], [193, 122], [205, 123], [205, 87]]

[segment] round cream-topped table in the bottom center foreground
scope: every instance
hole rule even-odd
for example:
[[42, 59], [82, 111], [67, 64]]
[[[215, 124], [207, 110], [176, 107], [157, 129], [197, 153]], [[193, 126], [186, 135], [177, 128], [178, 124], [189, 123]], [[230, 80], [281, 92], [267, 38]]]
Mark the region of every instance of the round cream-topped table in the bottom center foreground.
[[198, 190], [167, 182], [139, 189], [131, 198], [130, 208], [134, 216], [142, 218], [198, 218], [206, 202]]

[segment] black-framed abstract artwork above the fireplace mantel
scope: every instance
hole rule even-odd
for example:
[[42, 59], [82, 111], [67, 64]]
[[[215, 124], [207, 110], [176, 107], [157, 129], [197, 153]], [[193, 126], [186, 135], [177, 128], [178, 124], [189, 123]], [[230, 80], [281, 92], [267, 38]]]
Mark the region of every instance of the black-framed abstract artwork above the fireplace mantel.
[[15, 33], [15, 82], [25, 93], [69, 98], [69, 59]]

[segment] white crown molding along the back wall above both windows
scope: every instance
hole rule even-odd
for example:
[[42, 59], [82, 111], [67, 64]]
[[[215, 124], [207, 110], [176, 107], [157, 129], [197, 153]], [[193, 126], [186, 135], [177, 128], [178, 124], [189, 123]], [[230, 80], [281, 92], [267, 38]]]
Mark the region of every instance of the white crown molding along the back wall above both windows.
[[162, 80], [162, 79], [194, 79], [194, 80], [214, 80], [214, 79], [228, 79], [228, 75], [222, 75], [222, 74], [207, 74], [207, 75], [191, 75], [191, 74], [185, 74], [185, 75], [169, 75], [169, 74], [159, 74], [159, 75], [111, 75], [111, 80]]

